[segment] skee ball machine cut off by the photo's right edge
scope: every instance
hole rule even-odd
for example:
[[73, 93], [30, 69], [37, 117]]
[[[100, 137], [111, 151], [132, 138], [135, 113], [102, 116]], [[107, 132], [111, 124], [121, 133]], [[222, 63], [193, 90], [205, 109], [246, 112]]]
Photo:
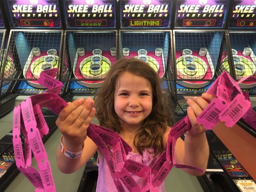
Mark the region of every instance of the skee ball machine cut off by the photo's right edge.
[[[256, 72], [256, 2], [234, 0], [231, 4], [228, 37], [231, 47], [231, 65], [234, 79], [253, 75]], [[222, 69], [230, 71], [226, 65], [227, 57], [222, 60]], [[256, 95], [256, 82], [245, 81], [239, 84], [249, 95]]]

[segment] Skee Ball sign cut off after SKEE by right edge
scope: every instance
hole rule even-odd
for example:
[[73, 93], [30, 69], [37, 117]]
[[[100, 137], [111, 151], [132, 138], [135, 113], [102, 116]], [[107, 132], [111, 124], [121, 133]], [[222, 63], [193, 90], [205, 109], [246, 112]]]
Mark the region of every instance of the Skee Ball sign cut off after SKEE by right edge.
[[256, 1], [234, 0], [231, 5], [229, 28], [256, 27]]

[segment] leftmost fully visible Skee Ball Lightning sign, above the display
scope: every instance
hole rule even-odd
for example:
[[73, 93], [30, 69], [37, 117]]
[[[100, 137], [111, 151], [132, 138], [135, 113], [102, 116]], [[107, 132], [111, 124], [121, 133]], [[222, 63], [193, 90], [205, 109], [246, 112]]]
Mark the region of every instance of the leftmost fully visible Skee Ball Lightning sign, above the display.
[[9, 0], [13, 27], [61, 28], [57, 0]]

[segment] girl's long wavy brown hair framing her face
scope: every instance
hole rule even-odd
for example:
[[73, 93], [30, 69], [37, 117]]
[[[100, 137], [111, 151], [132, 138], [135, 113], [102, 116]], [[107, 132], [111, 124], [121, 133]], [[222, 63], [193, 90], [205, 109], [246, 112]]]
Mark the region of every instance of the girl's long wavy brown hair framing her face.
[[130, 58], [121, 58], [111, 67], [106, 76], [102, 88], [95, 95], [96, 117], [101, 126], [121, 133], [120, 119], [114, 109], [114, 93], [118, 77], [123, 72], [129, 72], [143, 77], [151, 83], [153, 92], [152, 111], [144, 119], [134, 138], [134, 146], [142, 155], [142, 150], [154, 149], [154, 156], [164, 151], [163, 134], [169, 123], [172, 123], [170, 110], [164, 106], [164, 97], [162, 93], [161, 79], [152, 67], [146, 62]]

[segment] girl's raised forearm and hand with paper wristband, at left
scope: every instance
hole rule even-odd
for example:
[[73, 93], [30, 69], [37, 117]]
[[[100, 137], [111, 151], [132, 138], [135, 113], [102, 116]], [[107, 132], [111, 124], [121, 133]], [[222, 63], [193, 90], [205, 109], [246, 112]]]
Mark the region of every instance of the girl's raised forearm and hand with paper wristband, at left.
[[94, 117], [95, 108], [92, 98], [79, 98], [69, 103], [64, 108], [56, 125], [62, 133], [62, 144], [66, 150], [76, 153], [82, 150], [82, 154], [78, 158], [66, 157], [57, 147], [56, 158], [57, 165], [63, 173], [73, 173], [84, 165], [97, 151], [96, 144], [87, 137], [87, 129]]

